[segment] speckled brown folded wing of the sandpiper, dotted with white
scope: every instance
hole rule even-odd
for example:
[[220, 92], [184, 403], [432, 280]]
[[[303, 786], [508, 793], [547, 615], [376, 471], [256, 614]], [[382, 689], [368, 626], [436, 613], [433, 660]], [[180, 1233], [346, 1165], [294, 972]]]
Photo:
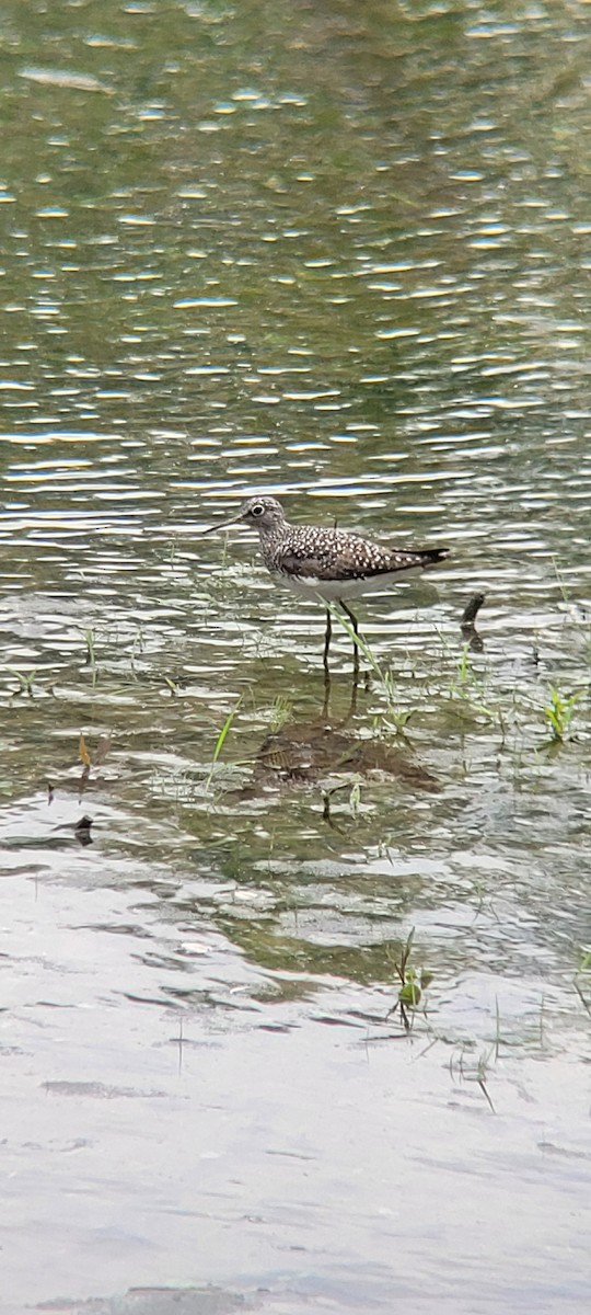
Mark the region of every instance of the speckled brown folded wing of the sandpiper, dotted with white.
[[365, 580], [397, 571], [420, 569], [440, 562], [447, 548], [387, 550], [369, 539], [360, 539], [343, 530], [298, 527], [296, 539], [288, 539], [272, 554], [273, 571], [302, 580]]

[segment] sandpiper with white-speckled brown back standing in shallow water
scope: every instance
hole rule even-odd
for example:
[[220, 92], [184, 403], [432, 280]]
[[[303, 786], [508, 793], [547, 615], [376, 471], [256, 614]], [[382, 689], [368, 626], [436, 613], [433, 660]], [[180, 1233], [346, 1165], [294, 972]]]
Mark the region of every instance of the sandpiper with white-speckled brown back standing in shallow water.
[[[236, 515], [202, 533], [213, 534], [239, 521], [257, 529], [263, 562], [274, 580], [306, 598], [336, 602], [349, 617], [355, 635], [359, 622], [347, 606], [347, 598], [383, 592], [399, 580], [435, 565], [449, 552], [449, 548], [386, 548], [347, 530], [290, 525], [274, 497], [251, 497]], [[331, 634], [331, 613], [327, 609], [324, 665]], [[357, 658], [357, 644], [355, 654]]]

